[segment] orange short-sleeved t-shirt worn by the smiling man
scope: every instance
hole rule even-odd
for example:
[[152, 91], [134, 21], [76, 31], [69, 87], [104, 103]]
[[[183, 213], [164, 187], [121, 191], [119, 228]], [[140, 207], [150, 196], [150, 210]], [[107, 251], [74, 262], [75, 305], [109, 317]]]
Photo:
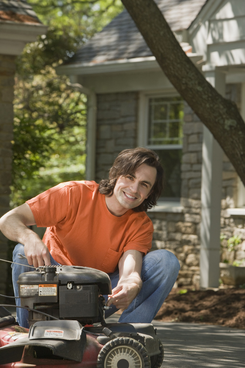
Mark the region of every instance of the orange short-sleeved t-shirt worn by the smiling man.
[[114, 272], [123, 252], [151, 249], [153, 225], [145, 212], [128, 210], [117, 217], [94, 181], [61, 183], [26, 201], [43, 242], [62, 265]]

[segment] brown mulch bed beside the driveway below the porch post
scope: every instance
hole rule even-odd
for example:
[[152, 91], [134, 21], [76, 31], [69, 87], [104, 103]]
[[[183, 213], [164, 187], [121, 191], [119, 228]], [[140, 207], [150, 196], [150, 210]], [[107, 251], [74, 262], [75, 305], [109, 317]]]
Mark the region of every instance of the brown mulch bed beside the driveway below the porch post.
[[155, 319], [245, 329], [245, 289], [173, 289]]

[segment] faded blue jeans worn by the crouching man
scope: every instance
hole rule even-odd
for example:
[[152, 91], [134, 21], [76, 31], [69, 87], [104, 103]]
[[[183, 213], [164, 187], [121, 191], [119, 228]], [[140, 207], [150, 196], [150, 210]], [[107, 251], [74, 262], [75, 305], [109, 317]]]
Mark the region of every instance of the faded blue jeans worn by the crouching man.
[[[16, 265], [12, 263], [12, 278], [15, 297], [18, 296], [17, 280], [22, 272], [33, 271], [26, 259], [18, 258], [18, 253], [24, 255], [24, 246], [17, 244], [13, 252], [13, 262], [21, 263]], [[59, 265], [50, 255], [51, 265]], [[164, 300], [172, 290], [180, 269], [179, 261], [176, 256], [165, 250], [156, 250], [143, 256], [141, 269], [141, 280], [143, 282], [140, 293], [131, 302], [129, 307], [123, 311], [119, 322], [132, 323], [151, 323], [155, 315], [161, 308]], [[119, 280], [119, 271], [109, 273], [112, 289], [116, 287]], [[107, 296], [105, 296], [107, 300]], [[20, 305], [20, 300], [16, 300], [16, 305]], [[118, 309], [112, 305], [112, 308], [105, 311], [105, 318], [115, 313]], [[17, 322], [20, 326], [28, 328], [28, 312], [25, 309], [17, 308]]]

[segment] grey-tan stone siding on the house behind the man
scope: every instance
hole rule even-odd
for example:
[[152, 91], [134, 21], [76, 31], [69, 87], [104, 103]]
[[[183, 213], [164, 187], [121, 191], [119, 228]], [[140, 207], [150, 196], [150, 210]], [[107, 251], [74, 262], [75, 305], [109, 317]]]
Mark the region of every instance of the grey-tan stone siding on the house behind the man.
[[[238, 103], [239, 86], [228, 85], [227, 96]], [[98, 95], [96, 180], [108, 177], [117, 154], [137, 145], [138, 93]], [[184, 139], [181, 165], [181, 212], [153, 212], [148, 216], [154, 225], [152, 250], [167, 249], [180, 262], [177, 279], [179, 287], [199, 288], [200, 223], [201, 223], [201, 172], [203, 124], [185, 103]], [[235, 206], [237, 174], [224, 156], [221, 233], [227, 237], [238, 234], [242, 243], [237, 257], [245, 258], [245, 216], [230, 216], [228, 207]], [[224, 252], [226, 250], [224, 249]], [[221, 255], [222, 258], [222, 255]]]

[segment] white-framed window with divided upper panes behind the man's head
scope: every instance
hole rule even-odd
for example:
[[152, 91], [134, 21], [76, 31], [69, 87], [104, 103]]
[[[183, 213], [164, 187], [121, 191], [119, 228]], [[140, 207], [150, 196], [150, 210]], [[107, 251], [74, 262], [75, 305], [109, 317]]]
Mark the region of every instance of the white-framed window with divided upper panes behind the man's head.
[[[166, 174], [162, 201], [180, 200], [184, 104], [180, 96], [145, 96], [142, 117], [145, 145], [158, 153]], [[140, 124], [141, 125], [141, 124]], [[144, 136], [144, 137], [143, 137]], [[143, 143], [144, 141], [144, 143]]]

